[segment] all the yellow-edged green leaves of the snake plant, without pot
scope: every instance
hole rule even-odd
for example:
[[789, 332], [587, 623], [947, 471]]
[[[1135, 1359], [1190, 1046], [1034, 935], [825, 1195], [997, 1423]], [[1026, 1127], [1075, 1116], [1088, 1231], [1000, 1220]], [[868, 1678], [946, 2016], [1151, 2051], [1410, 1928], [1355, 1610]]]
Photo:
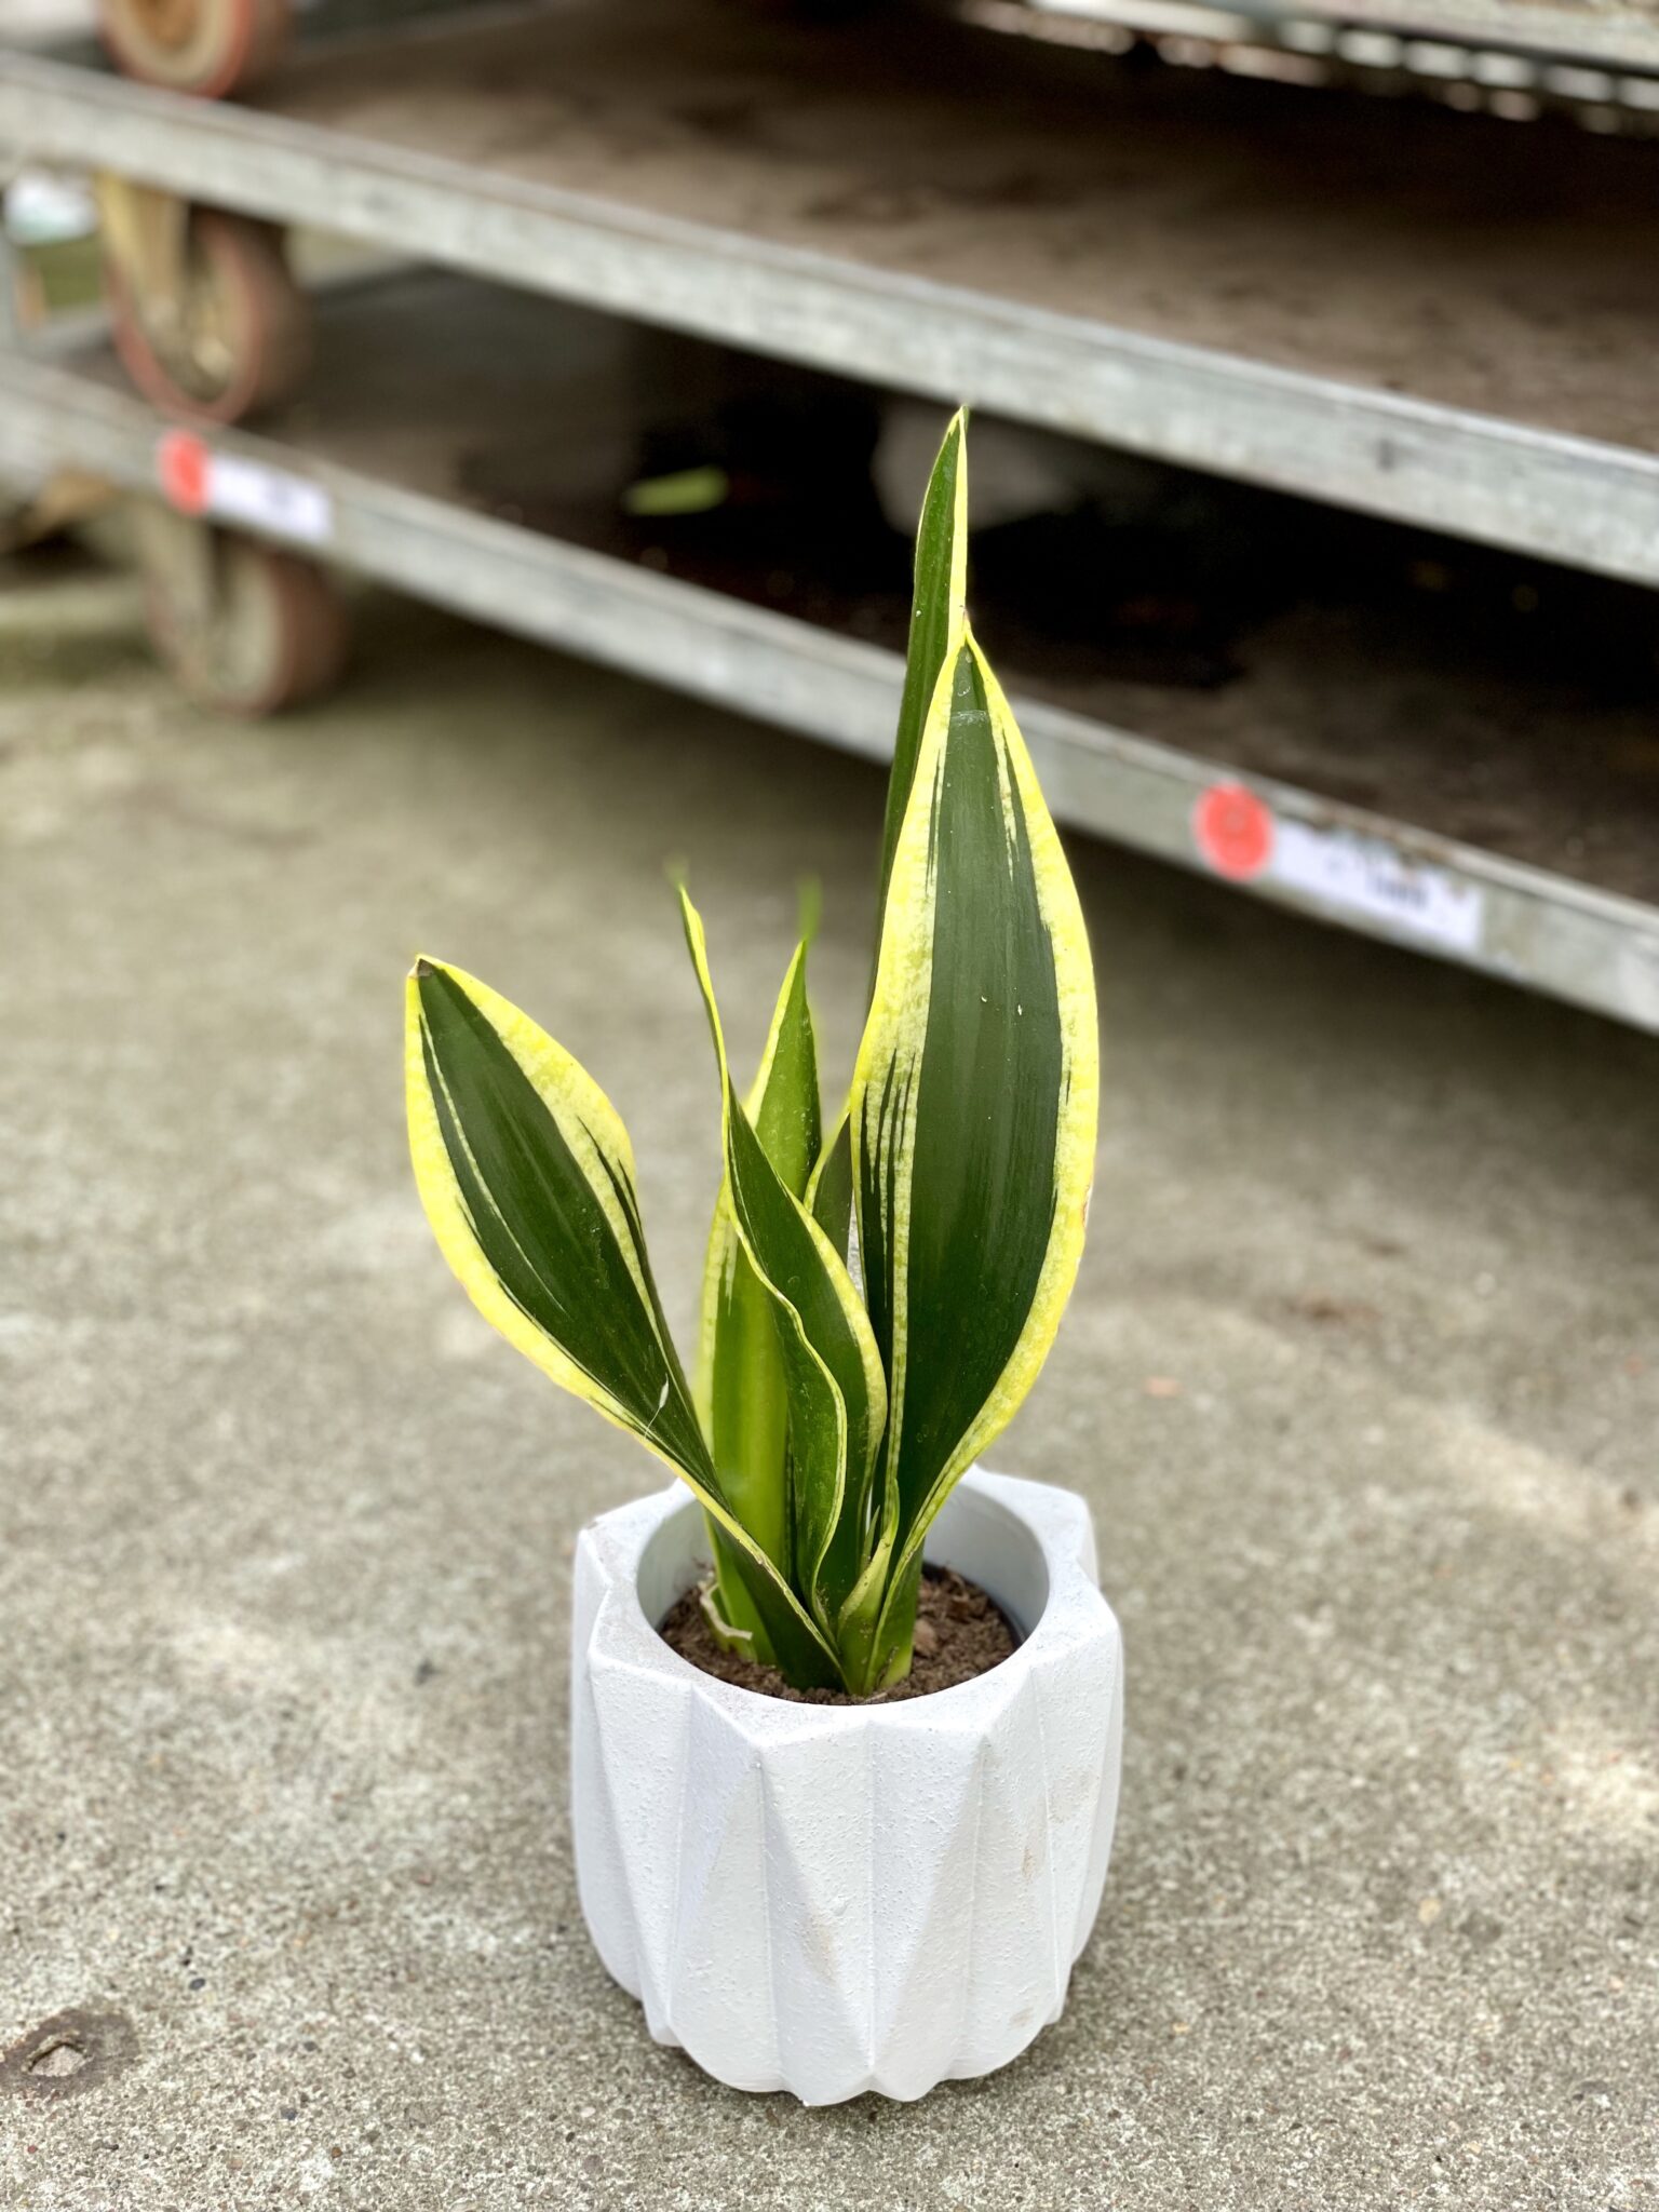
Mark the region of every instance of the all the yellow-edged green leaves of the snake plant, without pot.
[[[661, 1316], [604, 1093], [460, 969], [409, 980], [416, 1179], [473, 1303], [701, 1500], [719, 1606], [799, 1688], [911, 1657], [922, 1544], [1031, 1389], [1077, 1274], [1095, 987], [1031, 757], [967, 619], [967, 440], [929, 480], [865, 1035], [830, 1139], [805, 945], [748, 1099], [708, 947], [721, 1084], [697, 1396]], [[863, 1296], [860, 1296], [863, 1292]]]

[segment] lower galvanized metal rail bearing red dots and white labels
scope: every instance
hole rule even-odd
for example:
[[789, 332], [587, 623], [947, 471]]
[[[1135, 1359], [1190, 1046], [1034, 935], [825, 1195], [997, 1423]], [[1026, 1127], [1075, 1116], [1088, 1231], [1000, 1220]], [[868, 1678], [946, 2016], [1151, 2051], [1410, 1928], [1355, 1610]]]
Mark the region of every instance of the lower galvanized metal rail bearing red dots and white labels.
[[[142, 400], [46, 361], [0, 358], [0, 471], [75, 467], [157, 493], [166, 429]], [[197, 440], [208, 511], [299, 540], [383, 584], [849, 752], [891, 748], [898, 657], [748, 602], [327, 465], [296, 447]], [[1248, 887], [1279, 905], [1440, 953], [1659, 1031], [1659, 909], [1608, 896], [1175, 745], [1015, 701], [1055, 814], [1203, 869], [1217, 796], [1267, 845]]]

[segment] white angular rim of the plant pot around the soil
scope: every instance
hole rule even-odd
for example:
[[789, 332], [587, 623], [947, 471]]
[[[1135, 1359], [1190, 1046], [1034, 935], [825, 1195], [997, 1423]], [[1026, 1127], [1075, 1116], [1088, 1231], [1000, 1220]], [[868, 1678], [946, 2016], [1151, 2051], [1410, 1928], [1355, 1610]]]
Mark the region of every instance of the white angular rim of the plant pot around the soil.
[[[953, 1511], [960, 1515], [964, 1504], [980, 1513], [991, 1509], [993, 1515], [1006, 1515], [1035, 1546], [1046, 1575], [1042, 1608], [1029, 1628], [1024, 1628], [1018, 1606], [1009, 1604], [984, 1575], [973, 1575], [1013, 1626], [1024, 1628], [1024, 1632], [1006, 1659], [1000, 1659], [993, 1668], [969, 1681], [894, 1703], [818, 1705], [721, 1681], [719, 1674], [706, 1674], [699, 1666], [692, 1666], [690, 1659], [668, 1644], [646, 1613], [639, 1595], [639, 1571], [657, 1535], [681, 1513], [695, 1515], [701, 1526], [701, 1506], [679, 1480], [646, 1498], [613, 1506], [586, 1524], [584, 1535], [606, 1542], [606, 1548], [615, 1544], [611, 1559], [615, 1573], [613, 1595], [622, 1595], [622, 1606], [615, 1610], [613, 1601], [602, 1604], [588, 1635], [588, 1657], [599, 1663], [611, 1661], [690, 1677], [699, 1694], [710, 1697], [717, 1708], [723, 1708], [732, 1717], [743, 1717], [748, 1725], [768, 1719], [776, 1728], [825, 1732], [852, 1725], [918, 1728], [947, 1719], [953, 1725], [973, 1723], [975, 1714], [971, 1705], [975, 1701], [987, 1705], [989, 1701], [1000, 1703], [1004, 1697], [1020, 1694], [1035, 1657], [1075, 1644], [1082, 1635], [1099, 1632], [1102, 1628], [1110, 1630], [1115, 1621], [1095, 1579], [1088, 1506], [1075, 1491], [971, 1467], [945, 1502], [940, 1522], [947, 1522]], [[940, 1522], [936, 1522], [936, 1528]], [[931, 1535], [933, 1531], [929, 1531]], [[931, 1544], [925, 1544], [922, 1557], [929, 1557], [929, 1553]], [[956, 1562], [947, 1559], [945, 1564]], [[613, 1641], [617, 1632], [622, 1648]]]

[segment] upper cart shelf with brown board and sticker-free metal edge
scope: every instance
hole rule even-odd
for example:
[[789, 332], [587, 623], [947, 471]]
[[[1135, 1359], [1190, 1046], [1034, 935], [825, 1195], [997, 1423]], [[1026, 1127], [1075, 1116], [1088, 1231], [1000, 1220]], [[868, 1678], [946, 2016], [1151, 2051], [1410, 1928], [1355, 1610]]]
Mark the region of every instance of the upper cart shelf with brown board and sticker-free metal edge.
[[257, 108], [7, 58], [0, 146], [1659, 582], [1641, 144], [573, 0], [301, 60]]

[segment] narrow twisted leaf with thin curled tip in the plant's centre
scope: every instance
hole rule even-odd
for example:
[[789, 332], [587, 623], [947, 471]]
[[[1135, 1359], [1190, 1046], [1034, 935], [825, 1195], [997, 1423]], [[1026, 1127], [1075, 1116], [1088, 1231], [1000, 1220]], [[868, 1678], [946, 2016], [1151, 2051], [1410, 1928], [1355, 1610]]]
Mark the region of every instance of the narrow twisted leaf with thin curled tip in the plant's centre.
[[818, 1624], [834, 1632], [863, 1566], [887, 1389], [869, 1318], [845, 1263], [768, 1159], [737, 1095], [703, 922], [684, 889], [679, 902], [714, 1040], [732, 1219], [754, 1276], [772, 1298], [790, 1398], [792, 1582], [810, 1595]]

